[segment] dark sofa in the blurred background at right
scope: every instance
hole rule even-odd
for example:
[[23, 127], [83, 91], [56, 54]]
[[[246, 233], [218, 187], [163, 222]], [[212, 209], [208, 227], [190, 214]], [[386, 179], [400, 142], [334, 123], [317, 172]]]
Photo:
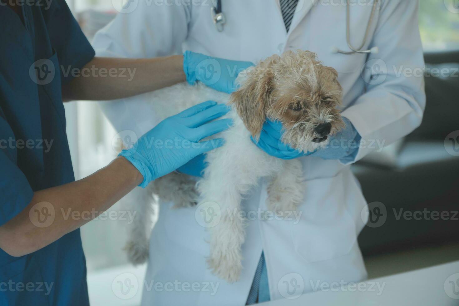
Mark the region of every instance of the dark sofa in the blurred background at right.
[[[381, 214], [374, 202], [386, 208], [386, 221], [358, 237], [364, 256], [459, 241], [459, 157], [445, 149], [447, 135], [459, 130], [459, 51], [426, 54], [425, 61], [428, 69], [448, 68], [451, 75], [425, 77], [420, 127], [403, 140], [392, 165], [353, 165], [369, 209]], [[408, 218], [399, 217], [401, 209]]]

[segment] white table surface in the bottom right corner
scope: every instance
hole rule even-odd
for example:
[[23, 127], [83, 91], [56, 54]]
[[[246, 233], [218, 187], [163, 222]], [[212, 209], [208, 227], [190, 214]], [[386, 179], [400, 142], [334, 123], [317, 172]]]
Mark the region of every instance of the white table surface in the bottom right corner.
[[[379, 284], [379, 287], [377, 286]], [[459, 261], [375, 278], [351, 287], [334, 286], [263, 306], [458, 306]], [[370, 286], [373, 285], [370, 290]], [[384, 287], [382, 287], [384, 286]], [[367, 289], [365, 289], [367, 288]], [[382, 288], [382, 290], [378, 289]], [[349, 289], [352, 289], [350, 291]]]

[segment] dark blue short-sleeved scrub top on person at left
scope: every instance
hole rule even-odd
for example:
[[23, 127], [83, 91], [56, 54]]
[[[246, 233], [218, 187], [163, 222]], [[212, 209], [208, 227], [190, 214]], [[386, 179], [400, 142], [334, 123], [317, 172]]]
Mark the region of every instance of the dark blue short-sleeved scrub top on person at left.
[[[0, 225], [74, 181], [61, 87], [95, 53], [65, 1], [48, 2], [23, 1], [21, 16], [0, 3]], [[0, 249], [0, 305], [89, 305], [79, 230], [22, 257]]]

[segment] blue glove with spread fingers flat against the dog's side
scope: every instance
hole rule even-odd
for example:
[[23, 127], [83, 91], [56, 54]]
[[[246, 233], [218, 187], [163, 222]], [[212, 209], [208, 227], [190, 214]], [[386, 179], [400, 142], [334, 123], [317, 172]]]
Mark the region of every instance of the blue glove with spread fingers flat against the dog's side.
[[231, 119], [210, 122], [228, 111], [226, 105], [213, 101], [193, 106], [164, 119], [119, 156], [124, 156], [140, 171], [144, 180], [139, 186], [145, 188], [152, 180], [222, 146], [223, 139], [200, 140], [222, 132], [232, 124]]

